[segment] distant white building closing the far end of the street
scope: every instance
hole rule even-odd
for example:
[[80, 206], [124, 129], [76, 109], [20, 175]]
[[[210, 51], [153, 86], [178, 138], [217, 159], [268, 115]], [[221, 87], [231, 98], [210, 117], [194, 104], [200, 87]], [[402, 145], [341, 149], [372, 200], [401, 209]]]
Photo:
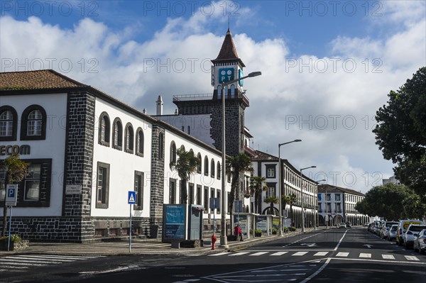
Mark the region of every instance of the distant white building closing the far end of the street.
[[318, 186], [318, 213], [320, 225], [336, 226], [340, 222], [351, 222], [352, 225], [368, 223], [368, 215], [355, 209], [364, 194], [353, 189], [335, 187], [329, 184]]

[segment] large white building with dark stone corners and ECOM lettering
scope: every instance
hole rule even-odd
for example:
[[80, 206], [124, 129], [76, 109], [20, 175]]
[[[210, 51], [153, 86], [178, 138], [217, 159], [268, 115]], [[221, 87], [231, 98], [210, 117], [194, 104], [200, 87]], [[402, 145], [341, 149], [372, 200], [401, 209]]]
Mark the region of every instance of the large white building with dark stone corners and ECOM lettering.
[[[102, 91], [53, 70], [0, 73], [0, 89], [0, 158], [20, 153], [29, 164], [11, 233], [74, 242], [127, 235], [126, 198], [136, 191], [133, 234], [160, 237], [163, 204], [180, 201], [170, 168], [180, 147], [203, 161], [188, 203], [207, 207], [222, 194], [222, 152]], [[5, 178], [0, 172], [1, 198]]]

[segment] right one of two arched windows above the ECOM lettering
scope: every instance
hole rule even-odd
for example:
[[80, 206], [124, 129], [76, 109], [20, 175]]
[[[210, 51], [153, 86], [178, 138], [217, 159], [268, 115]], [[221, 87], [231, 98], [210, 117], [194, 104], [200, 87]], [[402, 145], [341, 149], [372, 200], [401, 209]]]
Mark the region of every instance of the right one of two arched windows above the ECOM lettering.
[[21, 140], [45, 140], [46, 112], [39, 105], [28, 106], [22, 113]]

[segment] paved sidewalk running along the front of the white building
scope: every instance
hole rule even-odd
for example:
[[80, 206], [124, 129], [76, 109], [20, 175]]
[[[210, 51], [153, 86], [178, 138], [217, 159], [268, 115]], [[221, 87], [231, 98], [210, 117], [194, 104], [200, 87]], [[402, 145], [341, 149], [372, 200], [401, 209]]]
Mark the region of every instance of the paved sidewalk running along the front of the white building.
[[[279, 238], [286, 238], [297, 235], [300, 231], [285, 233], [282, 237], [278, 235], [262, 235], [262, 237], [246, 238], [244, 241], [229, 241], [229, 248], [223, 248], [216, 242], [215, 249], [212, 245], [204, 245], [201, 248], [171, 248], [170, 243], [161, 243], [159, 239], [139, 240], [132, 239], [131, 250], [129, 251], [129, 240], [119, 240], [116, 242], [97, 243], [29, 243], [25, 250], [0, 251], [0, 257], [16, 254], [50, 254], [50, 255], [81, 255], [81, 256], [102, 256], [102, 255], [202, 255], [207, 253], [222, 253], [224, 251], [240, 250], [252, 245], [266, 243]], [[206, 239], [207, 240], [207, 239]]]

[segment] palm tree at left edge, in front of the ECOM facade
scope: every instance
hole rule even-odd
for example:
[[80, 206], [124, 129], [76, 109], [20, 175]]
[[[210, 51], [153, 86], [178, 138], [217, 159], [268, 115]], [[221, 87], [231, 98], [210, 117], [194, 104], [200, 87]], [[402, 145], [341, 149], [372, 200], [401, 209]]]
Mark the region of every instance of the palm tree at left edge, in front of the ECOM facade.
[[19, 158], [19, 155], [16, 154], [10, 155], [5, 160], [0, 161], [0, 171], [4, 171], [6, 173], [6, 182], [4, 184], [4, 188], [1, 188], [5, 190], [3, 201], [3, 230], [1, 232], [2, 237], [6, 235], [7, 229], [6, 185], [21, 182], [22, 179], [26, 177], [27, 167], [28, 163], [23, 162]]

